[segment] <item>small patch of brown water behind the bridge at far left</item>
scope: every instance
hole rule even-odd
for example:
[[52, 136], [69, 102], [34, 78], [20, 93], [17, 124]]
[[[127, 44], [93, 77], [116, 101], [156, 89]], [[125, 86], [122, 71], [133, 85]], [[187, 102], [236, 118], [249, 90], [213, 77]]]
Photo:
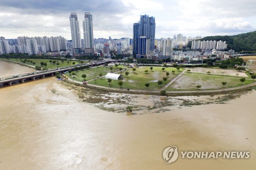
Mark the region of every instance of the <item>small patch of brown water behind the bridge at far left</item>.
[[16, 74], [27, 74], [30, 72], [35, 72], [35, 69], [11, 62], [0, 61], [0, 79], [12, 77], [12, 75]]

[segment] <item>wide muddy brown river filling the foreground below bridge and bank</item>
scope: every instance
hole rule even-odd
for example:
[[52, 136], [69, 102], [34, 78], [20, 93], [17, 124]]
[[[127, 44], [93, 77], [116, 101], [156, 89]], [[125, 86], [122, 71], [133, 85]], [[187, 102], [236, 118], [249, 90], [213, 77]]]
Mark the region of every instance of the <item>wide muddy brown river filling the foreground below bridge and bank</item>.
[[[0, 169], [256, 169], [255, 96], [127, 116], [80, 102], [54, 78], [1, 88]], [[250, 158], [179, 155], [165, 164], [162, 152], [174, 145]]]

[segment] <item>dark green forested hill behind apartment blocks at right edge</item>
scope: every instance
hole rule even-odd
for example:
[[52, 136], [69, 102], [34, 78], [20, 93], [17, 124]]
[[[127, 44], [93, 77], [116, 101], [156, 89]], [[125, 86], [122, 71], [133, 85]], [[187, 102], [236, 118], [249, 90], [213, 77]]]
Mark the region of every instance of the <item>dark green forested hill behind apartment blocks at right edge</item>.
[[[226, 41], [228, 50], [232, 49], [236, 52], [256, 51], [256, 31], [232, 36], [208, 36], [200, 39], [200, 41], [203, 40]], [[188, 47], [191, 47], [191, 42]]]

